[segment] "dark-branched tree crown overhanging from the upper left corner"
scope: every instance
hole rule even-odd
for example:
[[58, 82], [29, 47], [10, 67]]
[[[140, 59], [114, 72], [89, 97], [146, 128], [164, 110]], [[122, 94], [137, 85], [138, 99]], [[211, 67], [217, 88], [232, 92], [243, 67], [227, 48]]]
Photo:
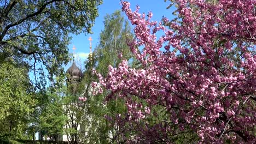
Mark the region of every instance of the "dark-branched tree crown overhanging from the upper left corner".
[[34, 73], [42, 73], [36, 64], [43, 64], [50, 78], [61, 74], [61, 65], [69, 61], [70, 34], [90, 33], [101, 3], [102, 0], [1, 0], [1, 59], [12, 57], [27, 63]]

